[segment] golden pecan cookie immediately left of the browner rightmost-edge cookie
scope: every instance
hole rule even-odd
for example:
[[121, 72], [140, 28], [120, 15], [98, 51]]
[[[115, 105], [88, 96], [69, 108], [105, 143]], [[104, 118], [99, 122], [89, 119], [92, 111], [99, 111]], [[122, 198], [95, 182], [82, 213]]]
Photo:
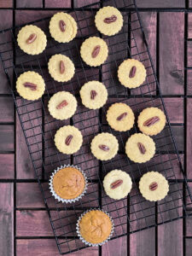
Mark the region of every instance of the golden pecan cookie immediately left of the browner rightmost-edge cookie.
[[115, 131], [128, 131], [134, 125], [135, 116], [125, 103], [114, 103], [108, 108], [107, 120]]

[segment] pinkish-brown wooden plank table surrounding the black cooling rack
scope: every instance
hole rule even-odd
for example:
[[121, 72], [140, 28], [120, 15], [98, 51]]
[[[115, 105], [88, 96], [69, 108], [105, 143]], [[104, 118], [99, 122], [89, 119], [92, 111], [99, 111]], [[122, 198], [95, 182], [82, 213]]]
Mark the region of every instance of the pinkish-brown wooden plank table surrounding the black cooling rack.
[[[1, 0], [0, 29], [93, 2]], [[192, 189], [192, 1], [137, 0], [137, 5]], [[59, 255], [1, 66], [0, 81], [0, 255]], [[192, 218], [187, 218], [72, 255], [190, 256], [191, 247]]]

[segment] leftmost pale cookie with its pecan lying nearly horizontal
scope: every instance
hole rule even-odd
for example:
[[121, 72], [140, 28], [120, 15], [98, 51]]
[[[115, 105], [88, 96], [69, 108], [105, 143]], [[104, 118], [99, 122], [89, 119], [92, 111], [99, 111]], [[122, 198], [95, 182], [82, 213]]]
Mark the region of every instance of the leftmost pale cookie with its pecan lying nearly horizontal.
[[26, 100], [38, 100], [44, 94], [44, 79], [33, 71], [21, 73], [16, 81], [16, 90]]

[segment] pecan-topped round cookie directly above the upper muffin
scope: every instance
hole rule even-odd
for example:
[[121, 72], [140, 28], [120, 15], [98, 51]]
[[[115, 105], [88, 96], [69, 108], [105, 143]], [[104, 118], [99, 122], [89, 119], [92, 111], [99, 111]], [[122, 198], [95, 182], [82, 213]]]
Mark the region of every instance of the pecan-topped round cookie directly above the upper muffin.
[[63, 154], [76, 153], [83, 143], [83, 136], [72, 125], [61, 127], [55, 134], [55, 146]]

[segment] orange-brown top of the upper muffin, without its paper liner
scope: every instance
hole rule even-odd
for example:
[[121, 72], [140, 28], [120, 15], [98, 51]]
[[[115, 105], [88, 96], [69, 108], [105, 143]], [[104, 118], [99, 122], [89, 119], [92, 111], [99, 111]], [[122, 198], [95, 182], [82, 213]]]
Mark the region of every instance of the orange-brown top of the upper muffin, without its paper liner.
[[84, 191], [84, 175], [74, 167], [66, 167], [55, 173], [53, 188], [63, 199], [74, 199]]

